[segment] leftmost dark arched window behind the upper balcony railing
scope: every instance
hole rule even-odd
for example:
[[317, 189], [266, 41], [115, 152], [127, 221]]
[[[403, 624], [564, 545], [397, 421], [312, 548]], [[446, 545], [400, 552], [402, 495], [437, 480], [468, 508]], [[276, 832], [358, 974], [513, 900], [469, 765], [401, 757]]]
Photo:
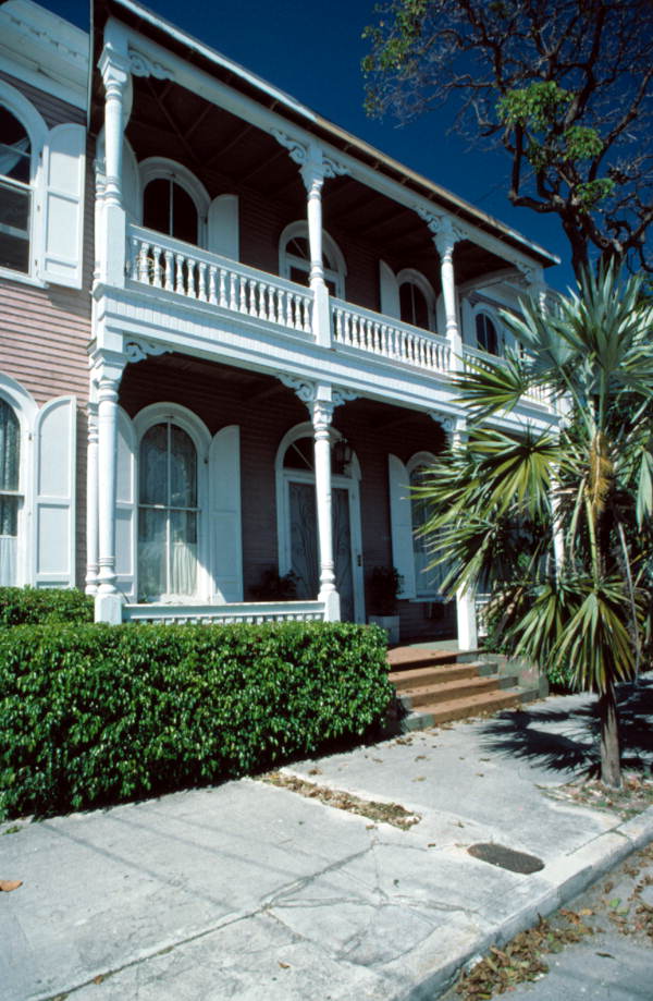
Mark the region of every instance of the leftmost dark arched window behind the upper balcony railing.
[[209, 195], [181, 163], [150, 157], [139, 167], [143, 225], [174, 240], [204, 246]]

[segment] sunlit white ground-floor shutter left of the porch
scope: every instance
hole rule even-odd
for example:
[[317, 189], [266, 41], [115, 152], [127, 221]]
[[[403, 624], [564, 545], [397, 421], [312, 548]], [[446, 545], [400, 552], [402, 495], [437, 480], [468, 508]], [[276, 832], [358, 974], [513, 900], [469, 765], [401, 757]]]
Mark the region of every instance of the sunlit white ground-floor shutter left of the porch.
[[75, 396], [50, 400], [35, 424], [34, 582], [75, 585]]

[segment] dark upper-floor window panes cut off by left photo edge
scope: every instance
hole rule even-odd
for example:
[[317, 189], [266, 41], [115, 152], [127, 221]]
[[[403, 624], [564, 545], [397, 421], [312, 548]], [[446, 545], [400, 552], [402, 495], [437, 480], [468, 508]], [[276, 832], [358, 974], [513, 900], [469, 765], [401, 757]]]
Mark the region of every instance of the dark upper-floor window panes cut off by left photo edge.
[[0, 267], [29, 271], [32, 145], [21, 122], [0, 105]]

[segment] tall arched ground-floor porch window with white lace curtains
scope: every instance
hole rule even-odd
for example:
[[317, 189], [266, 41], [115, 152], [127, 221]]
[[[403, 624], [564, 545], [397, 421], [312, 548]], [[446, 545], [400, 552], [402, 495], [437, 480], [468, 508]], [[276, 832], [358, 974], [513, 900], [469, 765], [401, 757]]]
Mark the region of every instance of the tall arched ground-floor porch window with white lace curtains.
[[140, 598], [197, 591], [197, 452], [190, 436], [167, 420], [140, 442], [138, 593]]

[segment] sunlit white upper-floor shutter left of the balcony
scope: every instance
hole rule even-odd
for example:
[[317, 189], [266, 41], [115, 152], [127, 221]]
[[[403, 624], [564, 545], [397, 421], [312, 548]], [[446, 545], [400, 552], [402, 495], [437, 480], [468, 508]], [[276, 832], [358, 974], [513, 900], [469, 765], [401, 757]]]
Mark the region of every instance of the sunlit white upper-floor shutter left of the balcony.
[[44, 148], [39, 278], [73, 289], [82, 288], [85, 143], [83, 125], [57, 125]]

